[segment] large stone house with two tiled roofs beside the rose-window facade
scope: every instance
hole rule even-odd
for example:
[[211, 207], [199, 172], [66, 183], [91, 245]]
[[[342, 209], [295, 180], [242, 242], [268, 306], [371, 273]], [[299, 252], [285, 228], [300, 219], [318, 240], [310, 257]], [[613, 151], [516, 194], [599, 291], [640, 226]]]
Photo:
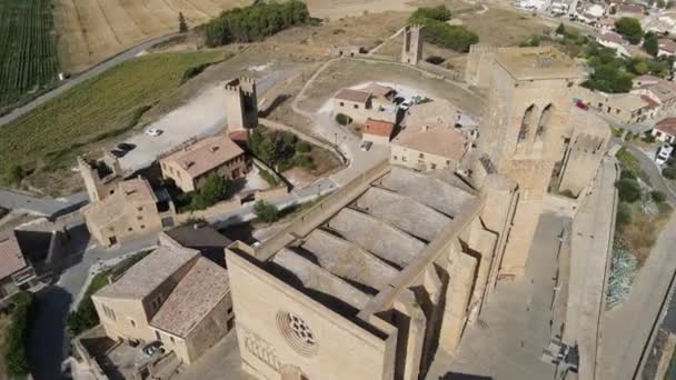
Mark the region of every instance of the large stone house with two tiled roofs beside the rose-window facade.
[[159, 247], [91, 299], [109, 338], [161, 341], [186, 363], [235, 326], [227, 271], [180, 247]]

